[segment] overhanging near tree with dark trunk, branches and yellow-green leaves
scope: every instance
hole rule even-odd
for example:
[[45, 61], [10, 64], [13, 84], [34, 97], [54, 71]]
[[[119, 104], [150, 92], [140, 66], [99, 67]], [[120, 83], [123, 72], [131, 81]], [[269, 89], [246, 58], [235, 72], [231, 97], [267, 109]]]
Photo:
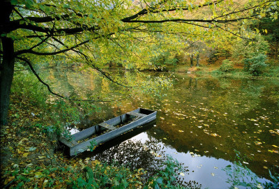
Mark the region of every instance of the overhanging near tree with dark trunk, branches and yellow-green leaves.
[[[114, 61], [126, 68], [144, 66], [154, 47], [174, 50], [187, 41], [243, 38], [252, 43], [258, 29], [247, 23], [278, 18], [279, 3], [268, 1], [59, 1], [1, 2], [1, 124], [6, 123], [14, 65], [67, 59], [98, 70]], [[267, 31], [265, 31], [267, 32]], [[42, 58], [43, 57], [43, 58]]]

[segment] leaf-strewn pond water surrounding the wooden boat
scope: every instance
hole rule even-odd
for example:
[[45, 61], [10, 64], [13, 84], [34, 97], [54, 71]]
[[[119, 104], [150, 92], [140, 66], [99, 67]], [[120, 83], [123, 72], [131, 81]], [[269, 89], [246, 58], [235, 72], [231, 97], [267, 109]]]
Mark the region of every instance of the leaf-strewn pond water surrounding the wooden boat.
[[[134, 80], [141, 80], [136, 73], [121, 73], [123, 77], [133, 74], [136, 75]], [[96, 103], [101, 107], [100, 112], [90, 116], [73, 132], [138, 107], [158, 111], [155, 123], [128, 137], [115, 139], [105, 144], [107, 146], [101, 145], [98, 153], [84, 153], [79, 158], [106, 162], [116, 159], [119, 163], [130, 163], [130, 167], [151, 171], [162, 165], [162, 158], [169, 154], [186, 167], [185, 176], [180, 178], [189, 186], [196, 184], [202, 188], [230, 186], [223, 169], [236, 159], [234, 150], [251, 158], [241, 162], [259, 176], [259, 181], [269, 179], [269, 169], [279, 171], [278, 79], [145, 74], [171, 77], [173, 85], [169, 89], [158, 89], [165, 95], [163, 97], [134, 94], [133, 91], [122, 93], [122, 88], [111, 85], [95, 72], [47, 70], [54, 91], [65, 96], [98, 95], [122, 99], [114, 103]]]

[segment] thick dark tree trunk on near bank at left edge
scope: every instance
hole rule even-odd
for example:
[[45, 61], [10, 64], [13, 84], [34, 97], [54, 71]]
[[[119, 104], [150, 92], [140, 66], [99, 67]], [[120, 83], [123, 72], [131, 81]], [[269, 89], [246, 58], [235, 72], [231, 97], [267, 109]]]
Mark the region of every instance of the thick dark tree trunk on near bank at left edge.
[[7, 123], [8, 105], [10, 103], [10, 86], [13, 81], [13, 71], [15, 67], [15, 57], [13, 56], [13, 40], [11, 38], [1, 38], [3, 47], [3, 59], [1, 62], [0, 74], [0, 121], [1, 125]]

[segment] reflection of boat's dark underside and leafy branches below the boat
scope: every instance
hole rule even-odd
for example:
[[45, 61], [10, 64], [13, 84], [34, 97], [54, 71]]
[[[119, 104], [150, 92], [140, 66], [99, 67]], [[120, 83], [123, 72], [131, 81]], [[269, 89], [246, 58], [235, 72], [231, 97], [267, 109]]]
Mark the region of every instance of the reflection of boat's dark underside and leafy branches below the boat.
[[[154, 176], [158, 171], [165, 169], [164, 162], [167, 160], [165, 146], [155, 138], [149, 138], [142, 133], [156, 126], [156, 121], [147, 123], [140, 128], [121, 135], [110, 142], [102, 144], [93, 153], [82, 153], [79, 158], [91, 157], [91, 160], [101, 160], [109, 165], [124, 165], [130, 169], [143, 168], [146, 173], [143, 175], [144, 183], [147, 183], [150, 176]], [[142, 133], [142, 134], [140, 134]], [[140, 137], [140, 138], [139, 138]], [[183, 173], [188, 175], [190, 170], [183, 166]], [[201, 188], [202, 186], [194, 180], [185, 180], [179, 177], [180, 172], [176, 172], [176, 179], [181, 186], [190, 188]]]

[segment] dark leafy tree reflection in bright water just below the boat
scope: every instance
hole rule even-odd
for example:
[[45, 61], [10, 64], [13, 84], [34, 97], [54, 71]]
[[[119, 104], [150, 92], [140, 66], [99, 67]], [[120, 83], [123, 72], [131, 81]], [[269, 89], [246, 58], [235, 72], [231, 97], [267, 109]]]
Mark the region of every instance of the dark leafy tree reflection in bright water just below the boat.
[[[92, 158], [106, 162], [108, 165], [123, 165], [130, 169], [143, 168], [146, 173], [143, 176], [144, 183], [147, 182], [149, 177], [156, 175], [158, 172], [165, 169], [167, 155], [164, 151], [164, 146], [159, 144], [156, 139], [147, 140], [142, 143], [140, 141], [128, 139], [121, 144], [117, 144], [110, 149], [96, 153]], [[125, 149], [125, 151], [123, 151]], [[183, 173], [189, 174], [190, 170], [185, 165], [183, 167]], [[179, 172], [176, 169], [176, 183], [188, 188], [201, 188], [202, 185], [196, 181], [184, 181], [179, 176]], [[173, 183], [173, 184], [176, 184]]]

